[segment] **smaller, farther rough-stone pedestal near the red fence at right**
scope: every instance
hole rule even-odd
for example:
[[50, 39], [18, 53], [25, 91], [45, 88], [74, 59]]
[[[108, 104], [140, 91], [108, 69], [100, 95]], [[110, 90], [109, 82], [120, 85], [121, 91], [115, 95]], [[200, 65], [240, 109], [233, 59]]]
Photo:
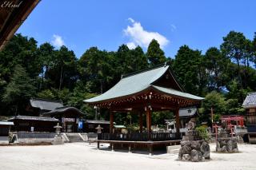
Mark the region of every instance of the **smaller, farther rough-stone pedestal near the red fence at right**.
[[238, 152], [238, 140], [232, 137], [218, 138], [216, 152]]

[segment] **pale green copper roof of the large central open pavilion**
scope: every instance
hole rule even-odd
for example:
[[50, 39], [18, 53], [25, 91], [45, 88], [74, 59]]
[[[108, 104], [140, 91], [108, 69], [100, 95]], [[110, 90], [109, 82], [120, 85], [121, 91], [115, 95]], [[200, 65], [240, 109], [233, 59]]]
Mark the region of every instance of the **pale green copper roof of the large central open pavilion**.
[[169, 65], [161, 65], [155, 68], [143, 70], [141, 72], [128, 74], [116, 84], [114, 87], [99, 95], [98, 97], [93, 97], [85, 100], [86, 103], [97, 103], [102, 101], [108, 101], [110, 99], [118, 97], [126, 97], [133, 95], [134, 93], [142, 92], [143, 90], [154, 88], [162, 93], [168, 93], [178, 97], [186, 97], [194, 100], [202, 100], [202, 97], [197, 97], [189, 93], [182, 93], [181, 91], [163, 88], [154, 85], [154, 81], [157, 81], [163, 74], [169, 70]]

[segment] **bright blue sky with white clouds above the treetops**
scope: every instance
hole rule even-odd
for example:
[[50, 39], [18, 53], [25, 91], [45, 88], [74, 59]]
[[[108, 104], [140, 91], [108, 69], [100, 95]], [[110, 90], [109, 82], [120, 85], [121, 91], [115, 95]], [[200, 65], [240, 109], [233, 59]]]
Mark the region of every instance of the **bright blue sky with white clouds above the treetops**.
[[17, 33], [38, 45], [66, 45], [77, 57], [91, 46], [108, 51], [119, 45], [146, 46], [158, 40], [167, 57], [181, 45], [200, 49], [222, 43], [230, 30], [252, 39], [256, 1], [238, 0], [42, 0]]

